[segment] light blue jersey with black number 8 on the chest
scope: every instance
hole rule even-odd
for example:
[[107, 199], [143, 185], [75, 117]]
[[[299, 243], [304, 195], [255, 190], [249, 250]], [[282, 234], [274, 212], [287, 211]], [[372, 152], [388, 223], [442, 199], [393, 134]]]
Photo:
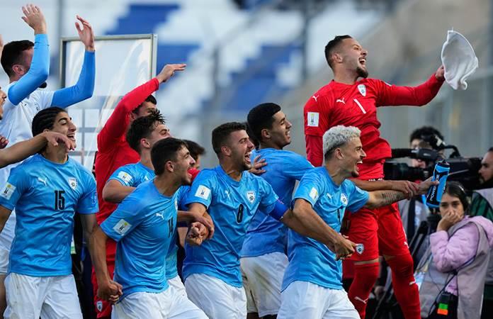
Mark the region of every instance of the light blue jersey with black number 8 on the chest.
[[278, 196], [264, 179], [243, 172], [235, 181], [221, 166], [204, 169], [193, 181], [186, 204], [201, 203], [215, 225], [214, 236], [200, 246], [185, 245], [183, 277], [207, 274], [242, 287], [239, 257], [246, 228], [257, 209], [273, 212]]

